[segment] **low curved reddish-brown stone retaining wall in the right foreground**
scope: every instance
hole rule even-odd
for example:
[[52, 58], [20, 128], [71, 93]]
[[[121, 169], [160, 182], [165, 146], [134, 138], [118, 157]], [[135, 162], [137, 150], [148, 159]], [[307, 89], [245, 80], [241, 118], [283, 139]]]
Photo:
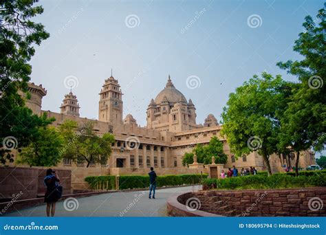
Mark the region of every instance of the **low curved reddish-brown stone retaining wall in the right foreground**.
[[[326, 216], [325, 187], [199, 191], [181, 194], [177, 201], [186, 205], [190, 198], [200, 201], [200, 211], [221, 216]], [[187, 214], [168, 209], [172, 216]]]

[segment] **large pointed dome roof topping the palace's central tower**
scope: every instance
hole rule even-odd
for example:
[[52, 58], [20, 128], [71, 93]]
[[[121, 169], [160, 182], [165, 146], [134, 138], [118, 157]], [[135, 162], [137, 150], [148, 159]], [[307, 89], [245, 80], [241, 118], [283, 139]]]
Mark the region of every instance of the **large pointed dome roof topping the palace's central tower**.
[[169, 101], [169, 103], [180, 102], [180, 99], [186, 100], [184, 95], [179, 90], [175, 89], [175, 86], [173, 85], [170, 76], [165, 88], [156, 96], [155, 103], [160, 104], [160, 102], [162, 102], [165, 97]]

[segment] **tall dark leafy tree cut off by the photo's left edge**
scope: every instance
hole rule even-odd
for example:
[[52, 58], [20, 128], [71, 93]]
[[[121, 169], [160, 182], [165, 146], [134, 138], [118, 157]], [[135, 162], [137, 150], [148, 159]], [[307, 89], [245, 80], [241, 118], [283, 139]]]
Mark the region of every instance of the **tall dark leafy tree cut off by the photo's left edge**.
[[[34, 45], [40, 45], [49, 34], [43, 25], [30, 19], [43, 12], [33, 7], [33, 0], [3, 0], [0, 3], [0, 161], [13, 161], [12, 148], [3, 142], [11, 138], [14, 148], [30, 144], [40, 126], [53, 120], [33, 115], [25, 107], [18, 91], [27, 92], [32, 67], [28, 61], [34, 55]], [[28, 94], [28, 98], [29, 98]]]

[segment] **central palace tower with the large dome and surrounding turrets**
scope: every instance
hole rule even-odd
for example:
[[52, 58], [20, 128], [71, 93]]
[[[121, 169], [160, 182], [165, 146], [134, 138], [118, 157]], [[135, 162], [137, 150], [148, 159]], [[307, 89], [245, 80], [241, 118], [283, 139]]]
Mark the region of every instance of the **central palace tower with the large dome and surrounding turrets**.
[[169, 76], [164, 89], [147, 108], [147, 128], [173, 132], [198, 128], [195, 105], [189, 101], [175, 88]]

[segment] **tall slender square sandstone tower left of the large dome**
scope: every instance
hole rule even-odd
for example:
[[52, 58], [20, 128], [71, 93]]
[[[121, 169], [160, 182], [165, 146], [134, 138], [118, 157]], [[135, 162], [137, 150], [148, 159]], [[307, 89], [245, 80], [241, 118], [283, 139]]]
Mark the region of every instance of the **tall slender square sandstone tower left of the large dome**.
[[122, 95], [118, 80], [114, 79], [111, 74], [100, 90], [98, 120], [111, 122], [111, 124], [122, 124]]

